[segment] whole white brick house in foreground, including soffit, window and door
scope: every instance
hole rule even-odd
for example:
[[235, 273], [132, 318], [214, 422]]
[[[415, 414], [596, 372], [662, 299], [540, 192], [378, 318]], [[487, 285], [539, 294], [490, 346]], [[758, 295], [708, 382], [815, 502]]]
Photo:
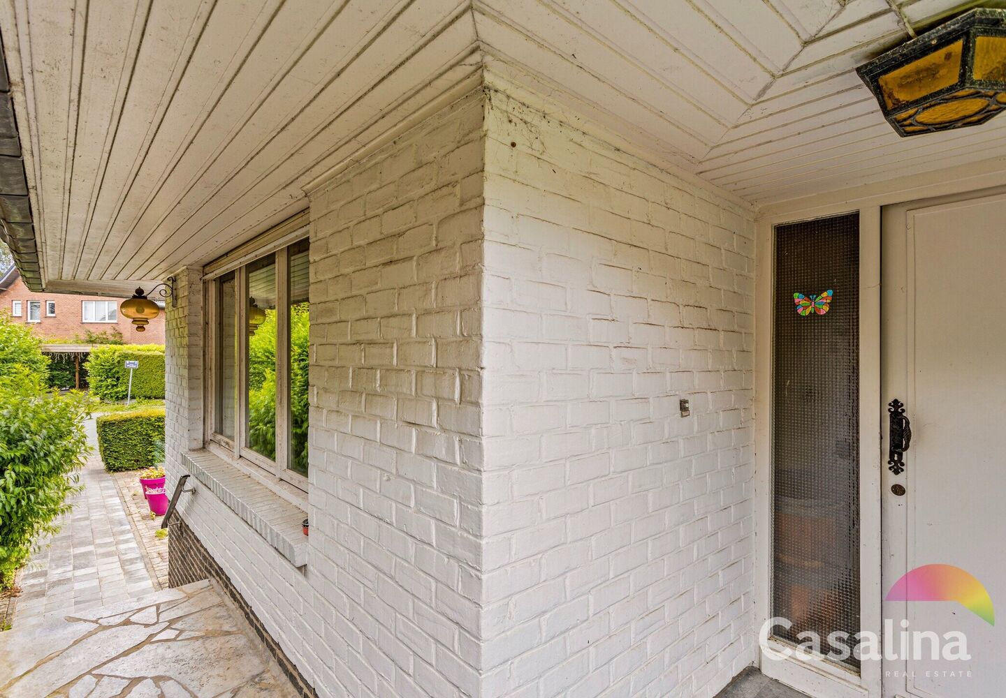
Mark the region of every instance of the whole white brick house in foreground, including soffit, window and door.
[[[3, 234], [40, 302], [167, 285], [171, 583], [305, 695], [994, 698], [1001, 624], [885, 600], [1006, 598], [961, 11], [12, 0]], [[841, 652], [908, 626], [973, 661]]]

